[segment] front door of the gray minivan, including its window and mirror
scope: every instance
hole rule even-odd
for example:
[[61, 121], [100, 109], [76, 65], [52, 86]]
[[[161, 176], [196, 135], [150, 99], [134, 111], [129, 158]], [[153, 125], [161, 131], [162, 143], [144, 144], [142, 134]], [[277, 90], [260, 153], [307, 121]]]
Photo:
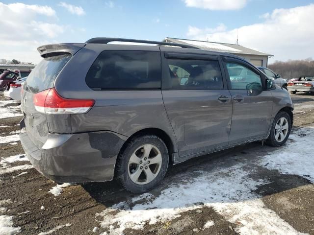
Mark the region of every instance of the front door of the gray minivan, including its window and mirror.
[[233, 97], [229, 144], [264, 138], [270, 125], [273, 97], [271, 92], [263, 91], [263, 75], [237, 59], [226, 59], [224, 64]]

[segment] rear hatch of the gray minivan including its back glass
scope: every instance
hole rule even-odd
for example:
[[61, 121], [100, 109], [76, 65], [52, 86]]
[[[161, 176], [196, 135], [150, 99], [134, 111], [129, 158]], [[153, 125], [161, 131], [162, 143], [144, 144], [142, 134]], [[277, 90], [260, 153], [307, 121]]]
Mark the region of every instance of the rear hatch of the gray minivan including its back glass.
[[[51, 54], [46, 56], [28, 75], [23, 85], [21, 107], [25, 116], [26, 132], [33, 143], [41, 148], [48, 138], [49, 126], [47, 115], [36, 109], [34, 98], [45, 99], [42, 92], [53, 88], [53, 83], [59, 72], [71, 58], [70, 53]], [[45, 100], [42, 100], [43, 102]]]

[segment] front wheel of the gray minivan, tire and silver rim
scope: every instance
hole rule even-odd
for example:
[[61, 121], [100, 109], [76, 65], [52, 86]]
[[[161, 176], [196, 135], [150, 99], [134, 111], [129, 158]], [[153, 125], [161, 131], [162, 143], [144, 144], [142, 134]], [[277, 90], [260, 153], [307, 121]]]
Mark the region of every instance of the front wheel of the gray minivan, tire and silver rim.
[[[281, 123], [283, 121], [283, 123]], [[284, 125], [288, 125], [287, 132], [285, 132]], [[283, 128], [284, 127], [284, 128]], [[283, 145], [290, 135], [291, 131], [291, 118], [287, 112], [282, 111], [278, 113], [271, 126], [270, 134], [266, 140], [266, 144], [273, 147], [278, 147]], [[282, 133], [282, 134], [281, 134]]]

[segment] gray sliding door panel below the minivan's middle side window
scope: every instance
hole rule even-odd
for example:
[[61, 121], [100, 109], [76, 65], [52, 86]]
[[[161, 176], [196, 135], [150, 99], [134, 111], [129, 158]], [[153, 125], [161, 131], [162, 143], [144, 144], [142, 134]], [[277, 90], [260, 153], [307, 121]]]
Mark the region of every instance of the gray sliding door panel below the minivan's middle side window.
[[228, 145], [232, 117], [228, 90], [169, 90], [162, 95], [180, 157]]

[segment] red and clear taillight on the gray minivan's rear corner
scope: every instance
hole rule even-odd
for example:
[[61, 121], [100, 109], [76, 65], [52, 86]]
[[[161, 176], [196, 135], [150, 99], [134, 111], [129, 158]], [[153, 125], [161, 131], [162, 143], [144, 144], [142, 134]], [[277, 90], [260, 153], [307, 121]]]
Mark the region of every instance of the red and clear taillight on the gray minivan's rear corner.
[[65, 99], [54, 88], [34, 94], [35, 109], [44, 114], [85, 114], [94, 105], [93, 99]]

